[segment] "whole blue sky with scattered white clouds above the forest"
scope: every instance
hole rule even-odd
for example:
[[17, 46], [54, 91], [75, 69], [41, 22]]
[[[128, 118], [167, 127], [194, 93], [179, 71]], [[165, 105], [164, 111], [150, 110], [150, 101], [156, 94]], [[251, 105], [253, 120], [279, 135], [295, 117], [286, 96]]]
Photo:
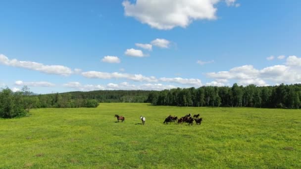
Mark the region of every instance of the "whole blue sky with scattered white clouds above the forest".
[[301, 83], [300, 0], [1, 0], [0, 87]]

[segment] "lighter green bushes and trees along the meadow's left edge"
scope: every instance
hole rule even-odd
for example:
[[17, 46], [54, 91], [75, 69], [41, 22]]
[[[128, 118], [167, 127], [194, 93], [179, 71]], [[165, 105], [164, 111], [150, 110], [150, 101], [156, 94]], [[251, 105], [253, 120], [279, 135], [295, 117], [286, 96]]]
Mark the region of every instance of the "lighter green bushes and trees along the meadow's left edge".
[[72, 98], [71, 94], [34, 95], [27, 86], [13, 92], [9, 88], [0, 91], [0, 118], [26, 116], [32, 108], [97, 107], [96, 99]]

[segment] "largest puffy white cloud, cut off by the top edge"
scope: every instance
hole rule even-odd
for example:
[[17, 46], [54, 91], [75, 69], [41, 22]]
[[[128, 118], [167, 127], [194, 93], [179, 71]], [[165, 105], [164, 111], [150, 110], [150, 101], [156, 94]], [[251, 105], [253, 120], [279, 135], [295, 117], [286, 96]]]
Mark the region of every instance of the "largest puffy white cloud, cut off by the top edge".
[[194, 20], [214, 20], [214, 7], [220, 0], [124, 0], [124, 14], [150, 25], [152, 28], [170, 30], [186, 28]]

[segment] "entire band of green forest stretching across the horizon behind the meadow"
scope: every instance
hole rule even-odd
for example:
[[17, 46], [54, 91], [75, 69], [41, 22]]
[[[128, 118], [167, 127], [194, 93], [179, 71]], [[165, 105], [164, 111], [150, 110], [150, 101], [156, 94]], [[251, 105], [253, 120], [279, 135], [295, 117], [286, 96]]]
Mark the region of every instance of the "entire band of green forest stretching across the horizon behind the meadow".
[[27, 86], [12, 92], [0, 91], [0, 117], [23, 116], [32, 108], [97, 107], [99, 103], [126, 102], [151, 103], [163, 106], [212, 106], [212, 107], [301, 107], [301, 84], [275, 86], [202, 86], [199, 88], [174, 88], [162, 91], [98, 90], [74, 91], [36, 95]]

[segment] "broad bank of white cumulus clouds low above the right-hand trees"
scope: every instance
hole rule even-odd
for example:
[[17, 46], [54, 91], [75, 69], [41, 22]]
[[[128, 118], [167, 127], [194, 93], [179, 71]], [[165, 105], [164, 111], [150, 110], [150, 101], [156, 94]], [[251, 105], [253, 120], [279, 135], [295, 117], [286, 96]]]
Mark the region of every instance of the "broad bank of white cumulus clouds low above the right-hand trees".
[[[268, 85], [267, 81], [276, 84], [301, 83], [301, 58], [289, 56], [286, 65], [274, 65], [261, 70], [252, 65], [235, 67], [229, 71], [210, 72], [205, 74], [209, 78], [217, 80], [235, 80], [238, 84]], [[273, 84], [272, 84], [273, 85]]]

